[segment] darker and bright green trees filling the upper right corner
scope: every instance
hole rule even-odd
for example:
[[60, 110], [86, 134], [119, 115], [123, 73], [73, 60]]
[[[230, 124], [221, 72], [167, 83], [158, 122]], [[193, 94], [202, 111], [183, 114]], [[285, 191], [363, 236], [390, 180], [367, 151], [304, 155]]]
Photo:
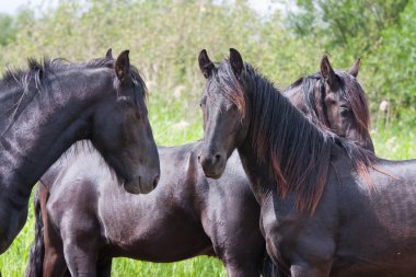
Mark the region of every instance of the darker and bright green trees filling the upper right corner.
[[[296, 8], [287, 25], [300, 38], [314, 39], [345, 67], [362, 57], [359, 78], [377, 123], [415, 126], [415, 1], [298, 0]], [[385, 114], [378, 111], [382, 101]]]

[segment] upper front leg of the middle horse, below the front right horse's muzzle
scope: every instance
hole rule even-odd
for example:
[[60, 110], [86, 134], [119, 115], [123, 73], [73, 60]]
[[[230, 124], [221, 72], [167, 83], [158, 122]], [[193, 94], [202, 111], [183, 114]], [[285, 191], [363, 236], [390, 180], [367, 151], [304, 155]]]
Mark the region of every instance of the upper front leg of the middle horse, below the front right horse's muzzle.
[[239, 192], [238, 197], [230, 196], [221, 205], [209, 205], [201, 218], [229, 277], [261, 276], [262, 272], [265, 241], [258, 228], [259, 207], [249, 186], [243, 193], [247, 196], [241, 197]]

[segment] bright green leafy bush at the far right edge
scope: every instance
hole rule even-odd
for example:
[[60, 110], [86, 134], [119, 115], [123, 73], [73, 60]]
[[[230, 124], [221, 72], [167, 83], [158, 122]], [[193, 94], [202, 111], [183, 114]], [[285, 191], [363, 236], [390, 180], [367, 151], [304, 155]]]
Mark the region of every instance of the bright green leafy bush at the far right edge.
[[[380, 47], [369, 57], [369, 86], [375, 103], [386, 100], [394, 124], [416, 119], [416, 2], [409, 1], [397, 24], [385, 28]], [[371, 79], [370, 79], [371, 78]], [[391, 120], [391, 118], [388, 118]]]

